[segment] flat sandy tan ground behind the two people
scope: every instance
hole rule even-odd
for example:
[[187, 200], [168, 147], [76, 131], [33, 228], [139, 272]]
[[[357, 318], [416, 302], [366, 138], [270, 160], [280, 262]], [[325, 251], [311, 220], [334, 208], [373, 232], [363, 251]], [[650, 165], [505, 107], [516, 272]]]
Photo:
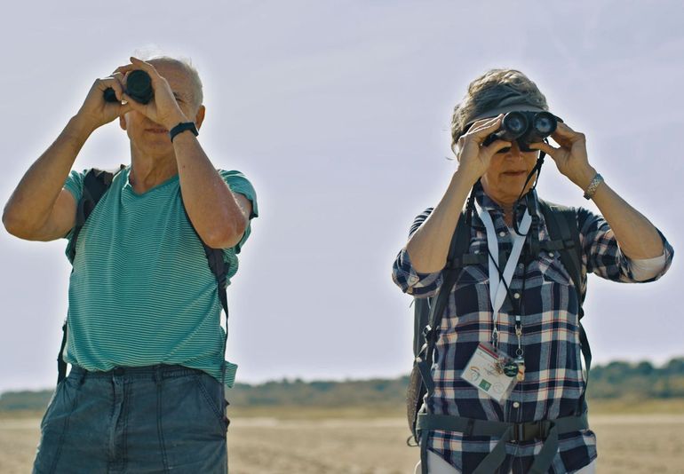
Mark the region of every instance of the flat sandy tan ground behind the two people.
[[[0, 473], [30, 472], [36, 417], [0, 419]], [[684, 415], [595, 415], [599, 472], [684, 472]], [[231, 474], [412, 473], [399, 418], [276, 420], [237, 418], [228, 434]]]

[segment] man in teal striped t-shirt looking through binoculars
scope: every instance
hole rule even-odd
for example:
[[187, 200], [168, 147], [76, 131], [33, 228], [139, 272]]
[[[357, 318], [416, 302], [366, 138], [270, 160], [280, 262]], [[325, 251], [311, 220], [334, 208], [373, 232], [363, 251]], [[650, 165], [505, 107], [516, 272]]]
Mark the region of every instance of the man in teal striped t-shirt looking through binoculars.
[[[250, 182], [204, 153], [204, 110], [188, 63], [131, 58], [95, 81], [7, 202], [10, 233], [67, 238], [73, 265], [61, 353], [72, 369], [41, 423], [35, 472], [227, 471], [235, 365], [220, 313], [258, 211]], [[115, 119], [130, 164], [71, 171]]]

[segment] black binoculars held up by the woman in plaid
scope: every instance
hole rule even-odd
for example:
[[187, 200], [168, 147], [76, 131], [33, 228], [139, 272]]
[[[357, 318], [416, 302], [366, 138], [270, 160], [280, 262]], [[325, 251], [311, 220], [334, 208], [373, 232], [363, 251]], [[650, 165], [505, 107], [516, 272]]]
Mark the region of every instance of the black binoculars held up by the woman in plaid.
[[[517, 141], [523, 152], [534, 151], [530, 143], [538, 143], [551, 135], [562, 120], [549, 112], [513, 111], [504, 115], [501, 126], [482, 142], [488, 146], [496, 140]], [[505, 148], [501, 152], [505, 152]]]

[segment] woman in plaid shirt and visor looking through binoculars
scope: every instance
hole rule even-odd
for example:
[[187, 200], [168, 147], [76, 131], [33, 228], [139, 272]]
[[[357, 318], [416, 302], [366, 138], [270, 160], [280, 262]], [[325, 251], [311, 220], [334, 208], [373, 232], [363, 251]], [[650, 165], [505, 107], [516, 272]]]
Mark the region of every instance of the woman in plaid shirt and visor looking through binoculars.
[[[551, 115], [520, 71], [473, 81], [451, 133], [457, 170], [411, 226], [393, 271], [404, 292], [432, 298], [417, 359], [426, 364], [417, 472], [594, 472], [582, 367], [591, 352], [579, 322], [586, 275], [656, 280], [672, 247], [604, 182], [585, 135]], [[539, 199], [545, 154], [601, 215]]]

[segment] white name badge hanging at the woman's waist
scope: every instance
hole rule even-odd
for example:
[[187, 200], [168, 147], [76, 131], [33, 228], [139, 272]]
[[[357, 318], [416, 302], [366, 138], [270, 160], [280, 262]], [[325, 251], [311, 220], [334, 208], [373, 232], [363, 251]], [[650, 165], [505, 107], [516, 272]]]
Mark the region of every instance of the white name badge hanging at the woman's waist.
[[465, 365], [461, 378], [502, 403], [517, 382], [518, 364], [489, 343], [480, 343]]

